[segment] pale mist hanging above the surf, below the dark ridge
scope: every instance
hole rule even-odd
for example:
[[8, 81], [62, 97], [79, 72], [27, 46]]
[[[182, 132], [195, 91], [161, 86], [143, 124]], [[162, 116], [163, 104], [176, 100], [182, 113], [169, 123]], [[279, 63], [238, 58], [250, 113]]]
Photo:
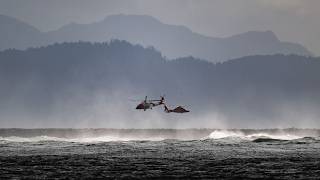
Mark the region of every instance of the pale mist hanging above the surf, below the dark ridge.
[[[275, 108], [279, 112], [274, 116], [256, 117], [257, 119], [246, 119], [248, 116], [233, 117], [238, 110], [221, 110], [217, 106], [208, 107], [195, 104], [190, 101], [190, 105], [184, 107], [190, 113], [167, 114], [162, 106], [152, 110], [136, 110], [139, 101], [130, 99], [143, 99], [144, 93], [138, 92], [132, 87], [125, 86], [126, 91], [118, 89], [114, 92], [100, 91], [93, 96], [84, 96], [80, 93], [66, 99], [55, 99], [54, 106], [45, 115], [38, 112], [25, 112], [14, 110], [10, 114], [1, 114], [2, 128], [311, 128], [317, 127], [317, 114], [315, 107], [301, 106], [293, 107], [283, 105]], [[74, 90], [77, 93], [77, 90]], [[148, 94], [148, 93], [146, 93]], [[150, 93], [152, 94], [152, 93]], [[167, 98], [167, 103], [171, 108], [180, 105], [179, 100]], [[152, 99], [158, 98], [156, 95], [150, 96]], [[245, 105], [244, 105], [245, 106]], [[300, 108], [299, 108], [300, 107]], [[242, 107], [239, 107], [242, 108]], [[14, 112], [13, 112], [14, 111]], [[25, 114], [26, 113], [26, 114]]]

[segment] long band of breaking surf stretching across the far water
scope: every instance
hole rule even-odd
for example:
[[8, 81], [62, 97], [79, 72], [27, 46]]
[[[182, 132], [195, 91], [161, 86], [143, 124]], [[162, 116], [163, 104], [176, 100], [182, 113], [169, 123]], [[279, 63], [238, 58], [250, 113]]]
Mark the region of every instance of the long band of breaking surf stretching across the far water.
[[189, 141], [225, 142], [320, 141], [318, 129], [0, 129], [0, 142]]

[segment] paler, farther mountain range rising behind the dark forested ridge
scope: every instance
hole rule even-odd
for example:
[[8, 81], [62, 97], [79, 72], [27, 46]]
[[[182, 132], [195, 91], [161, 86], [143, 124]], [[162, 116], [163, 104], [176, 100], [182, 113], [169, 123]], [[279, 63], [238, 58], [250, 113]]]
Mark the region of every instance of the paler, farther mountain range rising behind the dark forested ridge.
[[226, 38], [213, 38], [192, 32], [184, 26], [163, 24], [145, 15], [112, 15], [100, 22], [71, 23], [46, 33], [13, 18], [1, 16], [0, 32], [0, 49], [37, 47], [55, 42], [122, 39], [153, 46], [168, 58], [194, 56], [211, 62], [249, 55], [312, 55], [299, 44], [281, 42], [272, 31], [249, 31]]

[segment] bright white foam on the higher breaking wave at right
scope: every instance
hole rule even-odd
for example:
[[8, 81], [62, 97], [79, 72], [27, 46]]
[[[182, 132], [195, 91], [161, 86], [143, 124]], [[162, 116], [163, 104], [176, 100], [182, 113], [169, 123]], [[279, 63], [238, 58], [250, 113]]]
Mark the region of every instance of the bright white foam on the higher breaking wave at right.
[[224, 139], [224, 138], [240, 138], [243, 140], [254, 140], [258, 138], [294, 140], [294, 139], [300, 139], [303, 137], [293, 135], [293, 134], [269, 134], [269, 133], [254, 133], [254, 134], [245, 135], [243, 132], [240, 132], [240, 131], [216, 130], [216, 131], [213, 131], [205, 139]]

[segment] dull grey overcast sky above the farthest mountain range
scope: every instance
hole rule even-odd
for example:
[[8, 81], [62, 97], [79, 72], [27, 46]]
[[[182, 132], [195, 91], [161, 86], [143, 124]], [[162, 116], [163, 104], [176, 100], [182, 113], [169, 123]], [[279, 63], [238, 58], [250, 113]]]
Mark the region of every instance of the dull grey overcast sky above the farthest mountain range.
[[112, 14], [143, 14], [213, 37], [271, 30], [315, 55], [320, 55], [319, 7], [319, 0], [0, 0], [0, 14], [41, 31]]

